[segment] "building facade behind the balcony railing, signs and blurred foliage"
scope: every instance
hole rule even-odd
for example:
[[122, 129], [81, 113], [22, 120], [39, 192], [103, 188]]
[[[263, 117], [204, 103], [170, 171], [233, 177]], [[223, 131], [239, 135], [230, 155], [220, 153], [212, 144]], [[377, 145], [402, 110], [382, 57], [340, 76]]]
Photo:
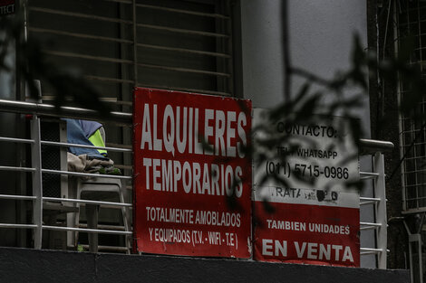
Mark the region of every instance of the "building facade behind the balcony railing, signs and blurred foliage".
[[[401, 7], [392, 1], [379, 2], [306, 0], [288, 1], [284, 5], [276, 0], [28, 0], [16, 1], [15, 10], [24, 13], [24, 34], [30, 41], [41, 42], [47, 61], [82, 76], [100, 93], [101, 100], [112, 111], [131, 113], [133, 87], [251, 99], [254, 108], [273, 108], [286, 98], [286, 58], [291, 59], [291, 64], [297, 68], [331, 79], [338, 71], [351, 67], [355, 33], [365, 50], [379, 56], [395, 52], [397, 45], [391, 44], [394, 35], [402, 33], [403, 26], [411, 26], [413, 21], [419, 25], [416, 32], [420, 41], [421, 1], [411, 1], [407, 6], [404, 2]], [[417, 7], [412, 6], [414, 2]], [[413, 9], [417, 9], [414, 20]], [[396, 20], [398, 22], [393, 22]], [[421, 51], [421, 45], [418, 48]], [[15, 69], [19, 67], [15, 64], [19, 54], [13, 48], [8, 52], [7, 60]], [[421, 62], [421, 52], [419, 56], [417, 62]], [[25, 100], [24, 78], [19, 73], [19, 70], [15, 70], [15, 74], [0, 72], [0, 99]], [[41, 80], [43, 102], [53, 103], [56, 90], [53, 81], [37, 78], [36, 74], [34, 79]], [[295, 77], [290, 90], [295, 93], [305, 80]], [[320, 86], [314, 84], [314, 88]], [[390, 140], [395, 146], [410, 146], [411, 140], [416, 140], [416, 146], [421, 143], [421, 137], [417, 138], [415, 134], [415, 124], [410, 124], [410, 129], [392, 127], [406, 127], [403, 118], [401, 123], [397, 119], [397, 98], [402, 90], [403, 85], [394, 85], [392, 81], [378, 80], [377, 77], [370, 80], [369, 94], [363, 99], [364, 107], [353, 113], [361, 120], [363, 138]], [[355, 89], [344, 90], [348, 97], [355, 93]], [[75, 97], [74, 100], [73, 97], [63, 99], [66, 105], [82, 107]], [[22, 116], [0, 115], [0, 136], [25, 137], [28, 128]], [[383, 123], [383, 117], [392, 122], [386, 120]], [[129, 125], [107, 122], [105, 128], [107, 146], [131, 149]], [[400, 136], [400, 131], [407, 135]], [[424, 132], [423, 127], [421, 131]], [[401, 153], [387, 154], [387, 175], [392, 175], [399, 165], [406, 147], [402, 146]], [[410, 266], [415, 269], [412, 262], [420, 262], [418, 269], [421, 267], [421, 260], [415, 261], [415, 254], [410, 253], [409, 242], [413, 241], [404, 226], [404, 222], [411, 225], [411, 218], [420, 217], [422, 221], [421, 213], [402, 214], [402, 211], [422, 207], [421, 161], [415, 159], [421, 158], [417, 156], [421, 156], [422, 149], [421, 145], [418, 147], [414, 156], [409, 156], [414, 163], [403, 163], [402, 179], [398, 171], [387, 184], [390, 269], [408, 269]], [[11, 166], [24, 165], [31, 159], [24, 147], [14, 144], [1, 147], [0, 155], [4, 156], [4, 165]], [[112, 152], [111, 158], [124, 175], [131, 175], [130, 154]], [[371, 159], [362, 157], [360, 166], [371, 170]], [[415, 184], [410, 183], [413, 179], [411, 171], [416, 172]], [[2, 193], [28, 193], [28, 182], [31, 182], [28, 175], [0, 171], [0, 177], [5, 180]], [[61, 179], [44, 179], [43, 182], [46, 185], [49, 182], [61, 184]], [[125, 185], [131, 188], [131, 182], [126, 182]], [[410, 202], [406, 201], [402, 209], [402, 188], [408, 192], [409, 186], [415, 186], [417, 193], [405, 194]], [[52, 191], [44, 195], [61, 197], [61, 189], [57, 185], [52, 187]], [[362, 193], [373, 197], [372, 185], [367, 184]], [[411, 199], [415, 199], [415, 204]], [[1, 203], [7, 213], [0, 215], [0, 222], [28, 222], [27, 207], [23, 202], [1, 200]], [[363, 208], [361, 219], [373, 221], [373, 207]], [[60, 241], [61, 237], [57, 239]], [[376, 234], [362, 231], [361, 239], [362, 246], [374, 246]], [[32, 241], [28, 231], [18, 229], [5, 230], [5, 235], [0, 237], [2, 246], [30, 247]], [[100, 241], [123, 240], [100, 238]], [[421, 241], [416, 243], [421, 246]], [[57, 247], [64, 245], [60, 242]], [[418, 259], [421, 259], [420, 255]], [[377, 266], [373, 255], [363, 257], [361, 261], [363, 268]]]

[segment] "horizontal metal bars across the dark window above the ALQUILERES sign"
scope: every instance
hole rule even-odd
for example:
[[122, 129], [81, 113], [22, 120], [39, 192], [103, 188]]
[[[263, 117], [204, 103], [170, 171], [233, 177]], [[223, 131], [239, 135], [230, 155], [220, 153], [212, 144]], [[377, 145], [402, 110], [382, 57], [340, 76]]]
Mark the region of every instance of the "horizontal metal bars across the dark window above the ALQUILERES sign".
[[[52, 60], [102, 63], [102, 67], [95, 72], [91, 68], [82, 68], [84, 78], [96, 83], [124, 85], [126, 88], [143, 85], [154, 89], [232, 96], [232, 18], [229, 16], [228, 1], [215, 1], [208, 5], [199, 3], [197, 6], [187, 5], [185, 1], [178, 5], [140, 0], [108, 2], [110, 3], [93, 4], [91, 8], [83, 9], [84, 11], [78, 9], [78, 5], [30, 2], [27, 5], [29, 36], [39, 37], [42, 33], [54, 42], [78, 42], [81, 46], [92, 46], [84, 50], [73, 48], [70, 51], [58, 43], [50, 46], [49, 50], [44, 49], [44, 54]], [[115, 10], [116, 13], [105, 13], [108, 10]], [[49, 16], [48, 26], [45, 24], [45, 15]], [[186, 21], [182, 22], [183, 15], [186, 16]], [[168, 21], [161, 21], [165, 16]], [[157, 20], [153, 21], [152, 18]], [[90, 24], [89, 27], [70, 27], [75, 21], [90, 21]], [[187, 21], [193, 24], [183, 24]], [[106, 32], [102, 29], [105, 24], [115, 26], [121, 33]], [[150, 37], [152, 33], [157, 34], [156, 40], [141, 40]], [[210, 40], [216, 43], [212, 45]], [[98, 49], [115, 50], [116, 43], [120, 44], [121, 52], [103, 52], [102, 56], [99, 55], [102, 52]], [[147, 57], [145, 53], [150, 56]], [[176, 61], [182, 57], [180, 55], [188, 59], [180, 59], [180, 64], [150, 60], [173, 57]], [[132, 69], [132, 72], [121, 71], [111, 75], [118, 64], [122, 69]], [[150, 79], [152, 72], [161, 75], [154, 76], [153, 80]], [[163, 79], [170, 76], [175, 80]], [[190, 81], [189, 84], [182, 84], [182, 77]], [[200, 81], [203, 83], [200, 84]], [[120, 97], [118, 93], [113, 96]], [[122, 99], [121, 102], [131, 102], [131, 98]]]

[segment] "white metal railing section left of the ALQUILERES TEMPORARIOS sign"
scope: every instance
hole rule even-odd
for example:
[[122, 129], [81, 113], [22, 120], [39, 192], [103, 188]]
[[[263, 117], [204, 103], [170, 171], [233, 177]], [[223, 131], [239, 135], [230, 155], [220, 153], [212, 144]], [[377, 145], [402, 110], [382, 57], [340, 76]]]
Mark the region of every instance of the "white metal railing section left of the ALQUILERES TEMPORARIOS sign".
[[[53, 170], [45, 169], [42, 167], [42, 146], [59, 146], [59, 147], [84, 147], [84, 148], [103, 148], [109, 151], [131, 153], [131, 149], [118, 148], [118, 147], [99, 147], [99, 146], [84, 146], [62, 142], [52, 142], [42, 140], [41, 138], [41, 126], [39, 115], [53, 116], [53, 117], [66, 117], [66, 118], [98, 118], [99, 115], [92, 110], [82, 108], [66, 108], [60, 109], [60, 113], [54, 109], [51, 105], [45, 104], [34, 104], [28, 102], [12, 101], [0, 99], [0, 111], [14, 112], [14, 113], [25, 113], [32, 114], [33, 117], [30, 121], [31, 137], [30, 139], [15, 138], [15, 137], [0, 137], [0, 142], [10, 142], [17, 144], [28, 144], [31, 146], [31, 167], [23, 166], [0, 166], [0, 171], [15, 171], [15, 172], [27, 172], [32, 174], [32, 193], [33, 195], [14, 195], [14, 194], [0, 194], [0, 199], [7, 200], [20, 200], [20, 201], [32, 201], [33, 202], [33, 223], [30, 224], [18, 224], [18, 223], [0, 223], [0, 228], [11, 228], [11, 229], [32, 229], [34, 230], [34, 249], [42, 249], [42, 237], [43, 231], [81, 231], [88, 233], [104, 233], [104, 234], [115, 234], [124, 235], [130, 237], [132, 231], [117, 231], [109, 229], [88, 229], [79, 227], [63, 227], [56, 225], [45, 225], [43, 222], [44, 216], [44, 202], [52, 203], [82, 203], [82, 204], [97, 204], [105, 205], [110, 207], [125, 207], [131, 208], [131, 203], [113, 203], [103, 201], [92, 201], [82, 199], [72, 199], [65, 197], [46, 197], [43, 195], [43, 177], [44, 174], [51, 175], [68, 175], [68, 176], [79, 176], [79, 177], [107, 177], [111, 179], [120, 179], [131, 181], [131, 176], [124, 175], [93, 175], [88, 173], [77, 173], [69, 172], [64, 170]], [[131, 114], [112, 112], [111, 116], [105, 118], [118, 123], [128, 124], [131, 122]]]

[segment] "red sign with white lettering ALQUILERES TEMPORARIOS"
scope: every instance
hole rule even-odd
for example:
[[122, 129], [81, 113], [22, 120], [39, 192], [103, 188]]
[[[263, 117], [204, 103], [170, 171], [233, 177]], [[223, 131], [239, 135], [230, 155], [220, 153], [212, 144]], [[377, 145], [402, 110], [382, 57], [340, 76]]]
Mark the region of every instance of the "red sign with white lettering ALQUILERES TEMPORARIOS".
[[136, 249], [249, 258], [251, 102], [137, 88], [133, 124]]

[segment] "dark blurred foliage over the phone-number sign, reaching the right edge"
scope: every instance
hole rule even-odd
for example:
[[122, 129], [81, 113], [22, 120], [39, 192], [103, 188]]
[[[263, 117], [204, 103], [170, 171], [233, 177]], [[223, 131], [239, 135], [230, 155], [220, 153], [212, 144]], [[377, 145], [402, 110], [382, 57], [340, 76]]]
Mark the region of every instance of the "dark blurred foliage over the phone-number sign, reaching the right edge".
[[[287, 44], [284, 48], [287, 48]], [[359, 115], [362, 113], [360, 111], [362, 108], [368, 107], [365, 105], [368, 103], [368, 80], [373, 74], [379, 73], [384, 80], [401, 80], [408, 85], [409, 91], [400, 98], [400, 111], [406, 118], [424, 121], [426, 114], [416, 109], [424, 99], [426, 82], [421, 75], [420, 66], [407, 63], [413, 51], [413, 39], [408, 37], [404, 42], [400, 42], [398, 56], [379, 60], [376, 53], [366, 52], [360, 38], [354, 35], [351, 66], [347, 71], [338, 71], [332, 79], [324, 79], [318, 74], [287, 65], [289, 77], [287, 80], [302, 79], [305, 83], [295, 94], [286, 94], [286, 101], [269, 111], [265, 122], [254, 128], [256, 135], [252, 154], [256, 163], [255, 167], [263, 168], [266, 162], [271, 160], [286, 164], [295, 156], [297, 148], [304, 146], [305, 141], [300, 138], [299, 141], [295, 141], [289, 135], [277, 134], [276, 122], [279, 120], [286, 121], [286, 124], [290, 125], [313, 126], [315, 123], [320, 123], [319, 119], [321, 119], [313, 114], [347, 118], [347, 123], [341, 125], [341, 128], [344, 128], [344, 131], [349, 134], [348, 137], [352, 139], [350, 144], [359, 147], [360, 138], [363, 137], [363, 125], [361, 125], [361, 119], [355, 114]], [[276, 146], [286, 146], [290, 150], [285, 155], [277, 155]], [[311, 148], [317, 148], [317, 146], [312, 145]], [[357, 156], [349, 156], [347, 162], [353, 158]], [[294, 176], [299, 177], [306, 184], [315, 185], [315, 178], [296, 174]], [[272, 184], [291, 187], [288, 178], [280, 175], [264, 175], [257, 185], [261, 187], [271, 179]], [[342, 183], [342, 180], [331, 180], [329, 186], [324, 189], [328, 190], [336, 182]], [[346, 188], [354, 187], [357, 190], [363, 188], [363, 183], [360, 181], [348, 180], [344, 185]]]

